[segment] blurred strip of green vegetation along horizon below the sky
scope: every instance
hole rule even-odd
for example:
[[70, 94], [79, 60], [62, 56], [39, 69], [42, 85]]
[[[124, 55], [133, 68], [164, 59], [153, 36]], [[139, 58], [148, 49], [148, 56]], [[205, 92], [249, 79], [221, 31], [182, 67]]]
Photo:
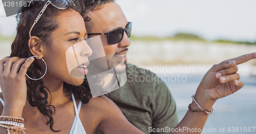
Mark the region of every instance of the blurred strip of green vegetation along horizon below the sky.
[[[172, 40], [172, 41], [207, 41], [206, 39], [195, 35], [195, 34], [188, 34], [188, 33], [178, 33], [175, 34], [174, 36], [170, 37], [155, 37], [155, 36], [131, 36], [131, 40], [142, 40], [142, 41], [161, 41], [161, 40]], [[221, 43], [221, 44], [246, 44], [246, 45], [256, 45], [255, 42], [248, 42], [248, 41], [231, 41], [231, 40], [214, 40], [214, 41], [208, 41], [208, 42], [216, 42], [216, 43]]]

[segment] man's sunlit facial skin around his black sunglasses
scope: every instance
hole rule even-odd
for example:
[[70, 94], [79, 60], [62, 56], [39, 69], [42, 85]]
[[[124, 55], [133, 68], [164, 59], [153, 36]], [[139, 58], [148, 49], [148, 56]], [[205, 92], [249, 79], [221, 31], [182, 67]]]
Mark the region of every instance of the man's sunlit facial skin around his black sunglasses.
[[[99, 11], [90, 11], [90, 21], [86, 21], [88, 33], [107, 33], [117, 28], [125, 28], [128, 21], [124, 16], [121, 8], [116, 3], [105, 4]], [[94, 35], [95, 36], [95, 35]], [[130, 39], [124, 32], [121, 42], [113, 45], [108, 44], [106, 35], [100, 35], [106, 55], [124, 54], [127, 51], [122, 51], [130, 45]], [[93, 37], [93, 36], [89, 36]], [[126, 57], [124, 58], [126, 61]]]

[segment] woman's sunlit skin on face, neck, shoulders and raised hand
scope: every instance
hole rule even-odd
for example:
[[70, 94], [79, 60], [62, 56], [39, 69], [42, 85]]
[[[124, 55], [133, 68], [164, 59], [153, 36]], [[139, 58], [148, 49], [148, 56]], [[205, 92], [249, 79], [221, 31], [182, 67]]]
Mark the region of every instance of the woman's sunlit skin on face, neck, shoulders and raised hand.
[[[84, 27], [82, 16], [74, 10], [61, 12], [56, 20], [59, 26], [51, 34], [51, 46], [49, 47], [39, 43], [30, 51], [34, 56], [38, 56], [36, 59], [43, 72], [45, 70], [45, 64], [41, 61], [41, 58], [47, 63], [47, 74], [43, 78], [43, 81], [52, 95], [51, 99], [49, 94], [48, 102], [51, 102], [55, 106], [53, 128], [55, 130], [61, 130], [58, 133], [69, 133], [74, 121], [75, 110], [71, 95], [66, 95], [63, 92], [63, 82], [78, 86], [82, 84], [83, 79], [69, 76], [66, 63], [66, 50], [77, 42], [86, 39], [87, 31]], [[32, 45], [37, 40], [37, 37], [31, 37], [29, 45]], [[88, 58], [92, 54], [90, 47], [87, 48], [80, 52], [84, 58]], [[4, 96], [5, 101], [4, 108], [0, 104], [0, 112], [3, 111], [3, 115], [23, 117], [25, 119], [24, 124], [25, 128], [27, 128], [25, 131], [27, 133], [56, 133], [51, 131], [50, 127], [45, 124], [46, 119], [38, 109], [33, 108], [26, 101], [26, 69], [24, 68], [27, 68], [33, 62], [31, 59], [23, 64], [26, 59], [6, 57], [0, 61], [0, 84], [2, 89], [0, 97], [3, 99]], [[13, 67], [11, 67], [10, 63], [14, 61], [15, 65], [13, 64]], [[6, 67], [4, 66], [5, 63]], [[17, 73], [17, 68], [20, 65], [23, 66], [22, 71]], [[13, 70], [7, 69], [9, 67]], [[15, 68], [16, 70], [14, 70]], [[78, 101], [76, 99], [77, 105]], [[87, 133], [99, 133], [100, 131], [104, 131], [105, 133], [113, 133], [114, 131], [120, 133], [122, 129], [127, 129], [127, 133], [134, 133], [130, 130], [140, 132], [125, 119], [117, 106], [104, 96], [92, 98], [88, 103], [82, 104], [79, 118]], [[122, 129], [118, 130], [117, 128]], [[0, 127], [1, 134], [6, 132], [6, 128]], [[17, 132], [12, 131], [11, 133]]]

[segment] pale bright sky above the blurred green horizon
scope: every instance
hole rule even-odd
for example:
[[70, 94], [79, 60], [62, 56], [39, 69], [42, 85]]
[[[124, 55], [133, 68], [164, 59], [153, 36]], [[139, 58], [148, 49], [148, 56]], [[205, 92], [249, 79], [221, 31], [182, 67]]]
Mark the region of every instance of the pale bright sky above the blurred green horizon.
[[[195, 33], [206, 39], [256, 40], [254, 0], [117, 0], [133, 35], [169, 36]], [[0, 33], [14, 35], [14, 16], [4, 17], [0, 3]]]

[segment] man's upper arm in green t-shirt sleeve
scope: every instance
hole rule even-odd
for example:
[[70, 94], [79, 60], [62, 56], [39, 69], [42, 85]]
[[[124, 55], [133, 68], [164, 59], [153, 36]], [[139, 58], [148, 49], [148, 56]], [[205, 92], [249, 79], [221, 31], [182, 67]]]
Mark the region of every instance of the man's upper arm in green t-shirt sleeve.
[[[156, 129], [163, 128], [164, 130], [165, 127], [168, 127], [168, 129], [174, 128], [179, 123], [176, 103], [167, 86], [163, 82], [159, 82], [157, 84], [155, 95], [152, 127]], [[169, 132], [165, 130], [165, 132], [162, 131], [161, 133]]]

